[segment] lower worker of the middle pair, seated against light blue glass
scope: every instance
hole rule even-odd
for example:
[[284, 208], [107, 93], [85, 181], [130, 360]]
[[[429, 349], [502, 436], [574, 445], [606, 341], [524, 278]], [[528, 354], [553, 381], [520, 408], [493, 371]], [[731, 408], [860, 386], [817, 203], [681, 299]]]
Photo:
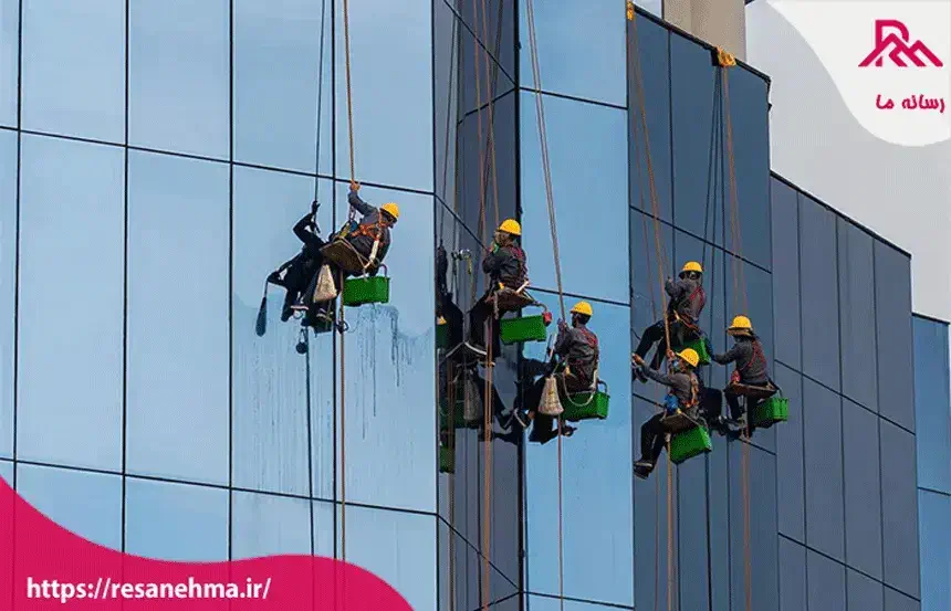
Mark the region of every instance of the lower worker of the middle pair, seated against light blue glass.
[[[555, 378], [560, 393], [571, 398], [571, 394], [593, 390], [597, 384], [598, 361], [600, 348], [597, 336], [587, 328], [587, 324], [594, 315], [592, 305], [587, 302], [578, 302], [572, 307], [572, 323], [568, 326], [564, 320], [558, 320], [558, 335], [552, 349], [552, 362], [548, 370], [554, 370], [551, 376]], [[542, 443], [557, 435], [552, 430], [554, 423], [551, 417], [539, 413], [539, 404], [545, 388], [546, 376], [539, 380], [527, 391], [524, 405], [527, 407], [527, 420], [534, 421], [530, 441]], [[527, 426], [527, 421], [516, 412], [515, 418], [522, 426]], [[573, 426], [563, 426], [563, 433], [571, 435]]]

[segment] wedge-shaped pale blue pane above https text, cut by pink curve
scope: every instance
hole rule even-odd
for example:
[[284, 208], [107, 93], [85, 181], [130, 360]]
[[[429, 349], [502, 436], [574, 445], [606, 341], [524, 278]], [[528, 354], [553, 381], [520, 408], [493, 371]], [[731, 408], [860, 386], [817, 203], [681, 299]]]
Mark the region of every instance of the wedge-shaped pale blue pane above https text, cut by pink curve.
[[20, 464], [17, 492], [76, 535], [122, 549], [122, 477]]

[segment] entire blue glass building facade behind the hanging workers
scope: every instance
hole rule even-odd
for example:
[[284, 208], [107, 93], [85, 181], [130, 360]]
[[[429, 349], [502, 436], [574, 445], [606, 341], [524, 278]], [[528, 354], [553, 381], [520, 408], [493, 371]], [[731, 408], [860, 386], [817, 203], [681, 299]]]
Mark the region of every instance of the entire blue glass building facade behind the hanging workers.
[[[951, 488], [916, 421], [949, 418], [948, 346], [908, 255], [770, 173], [762, 74], [640, 9], [536, 0], [537, 82], [527, 19], [352, 0], [351, 150], [341, 2], [0, 0], [0, 475], [115, 549], [346, 557], [416, 609], [924, 607]], [[255, 335], [262, 284], [312, 200], [324, 234], [346, 219], [352, 154], [400, 206], [391, 297], [302, 356], [275, 289]], [[610, 414], [561, 481], [510, 418], [545, 345], [445, 358], [506, 218], [535, 298], [595, 309]], [[791, 417], [635, 480], [661, 392], [630, 352], [687, 260], [713, 347], [749, 314]]]

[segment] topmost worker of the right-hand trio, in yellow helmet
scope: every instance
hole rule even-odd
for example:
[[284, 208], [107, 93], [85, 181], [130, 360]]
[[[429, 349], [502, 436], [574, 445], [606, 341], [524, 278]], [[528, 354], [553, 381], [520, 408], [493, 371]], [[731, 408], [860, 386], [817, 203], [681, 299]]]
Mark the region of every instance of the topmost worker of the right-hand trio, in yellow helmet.
[[[683, 346], [699, 339], [702, 335], [698, 320], [703, 306], [707, 304], [707, 294], [703, 292], [703, 267], [696, 261], [688, 261], [680, 270], [680, 280], [673, 282], [667, 278], [663, 289], [670, 296], [665, 314], [667, 325], [670, 327], [670, 341], [675, 347]], [[660, 369], [663, 355], [670, 348], [665, 337], [665, 320], [658, 320], [644, 329], [640, 343], [635, 354], [641, 359], [650, 351], [651, 346], [660, 345], [650, 362], [652, 369]], [[647, 377], [637, 372], [641, 382], [647, 382]]]

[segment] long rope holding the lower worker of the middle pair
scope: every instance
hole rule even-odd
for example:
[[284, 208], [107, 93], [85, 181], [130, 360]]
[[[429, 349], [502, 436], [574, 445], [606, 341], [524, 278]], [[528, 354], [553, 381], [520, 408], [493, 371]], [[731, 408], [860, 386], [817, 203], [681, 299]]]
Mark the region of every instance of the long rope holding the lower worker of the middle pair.
[[[535, 9], [532, 0], [525, 0], [525, 9], [529, 21], [529, 41], [532, 55], [532, 74], [535, 82], [535, 114], [539, 123], [539, 144], [542, 149], [542, 169], [545, 178], [545, 196], [548, 208], [548, 224], [552, 231], [552, 251], [555, 259], [555, 281], [558, 287], [558, 307], [561, 309], [562, 320], [566, 319], [565, 315], [565, 293], [562, 285], [562, 264], [561, 252], [558, 249], [558, 231], [555, 220], [555, 202], [552, 189], [552, 172], [551, 160], [548, 159], [548, 138], [545, 133], [545, 105], [542, 98], [542, 75], [539, 66], [539, 48], [535, 36]], [[565, 608], [565, 561], [564, 561], [564, 509], [563, 509], [563, 472], [562, 464], [562, 418], [557, 419], [557, 438], [558, 438], [558, 603], [561, 610]]]

